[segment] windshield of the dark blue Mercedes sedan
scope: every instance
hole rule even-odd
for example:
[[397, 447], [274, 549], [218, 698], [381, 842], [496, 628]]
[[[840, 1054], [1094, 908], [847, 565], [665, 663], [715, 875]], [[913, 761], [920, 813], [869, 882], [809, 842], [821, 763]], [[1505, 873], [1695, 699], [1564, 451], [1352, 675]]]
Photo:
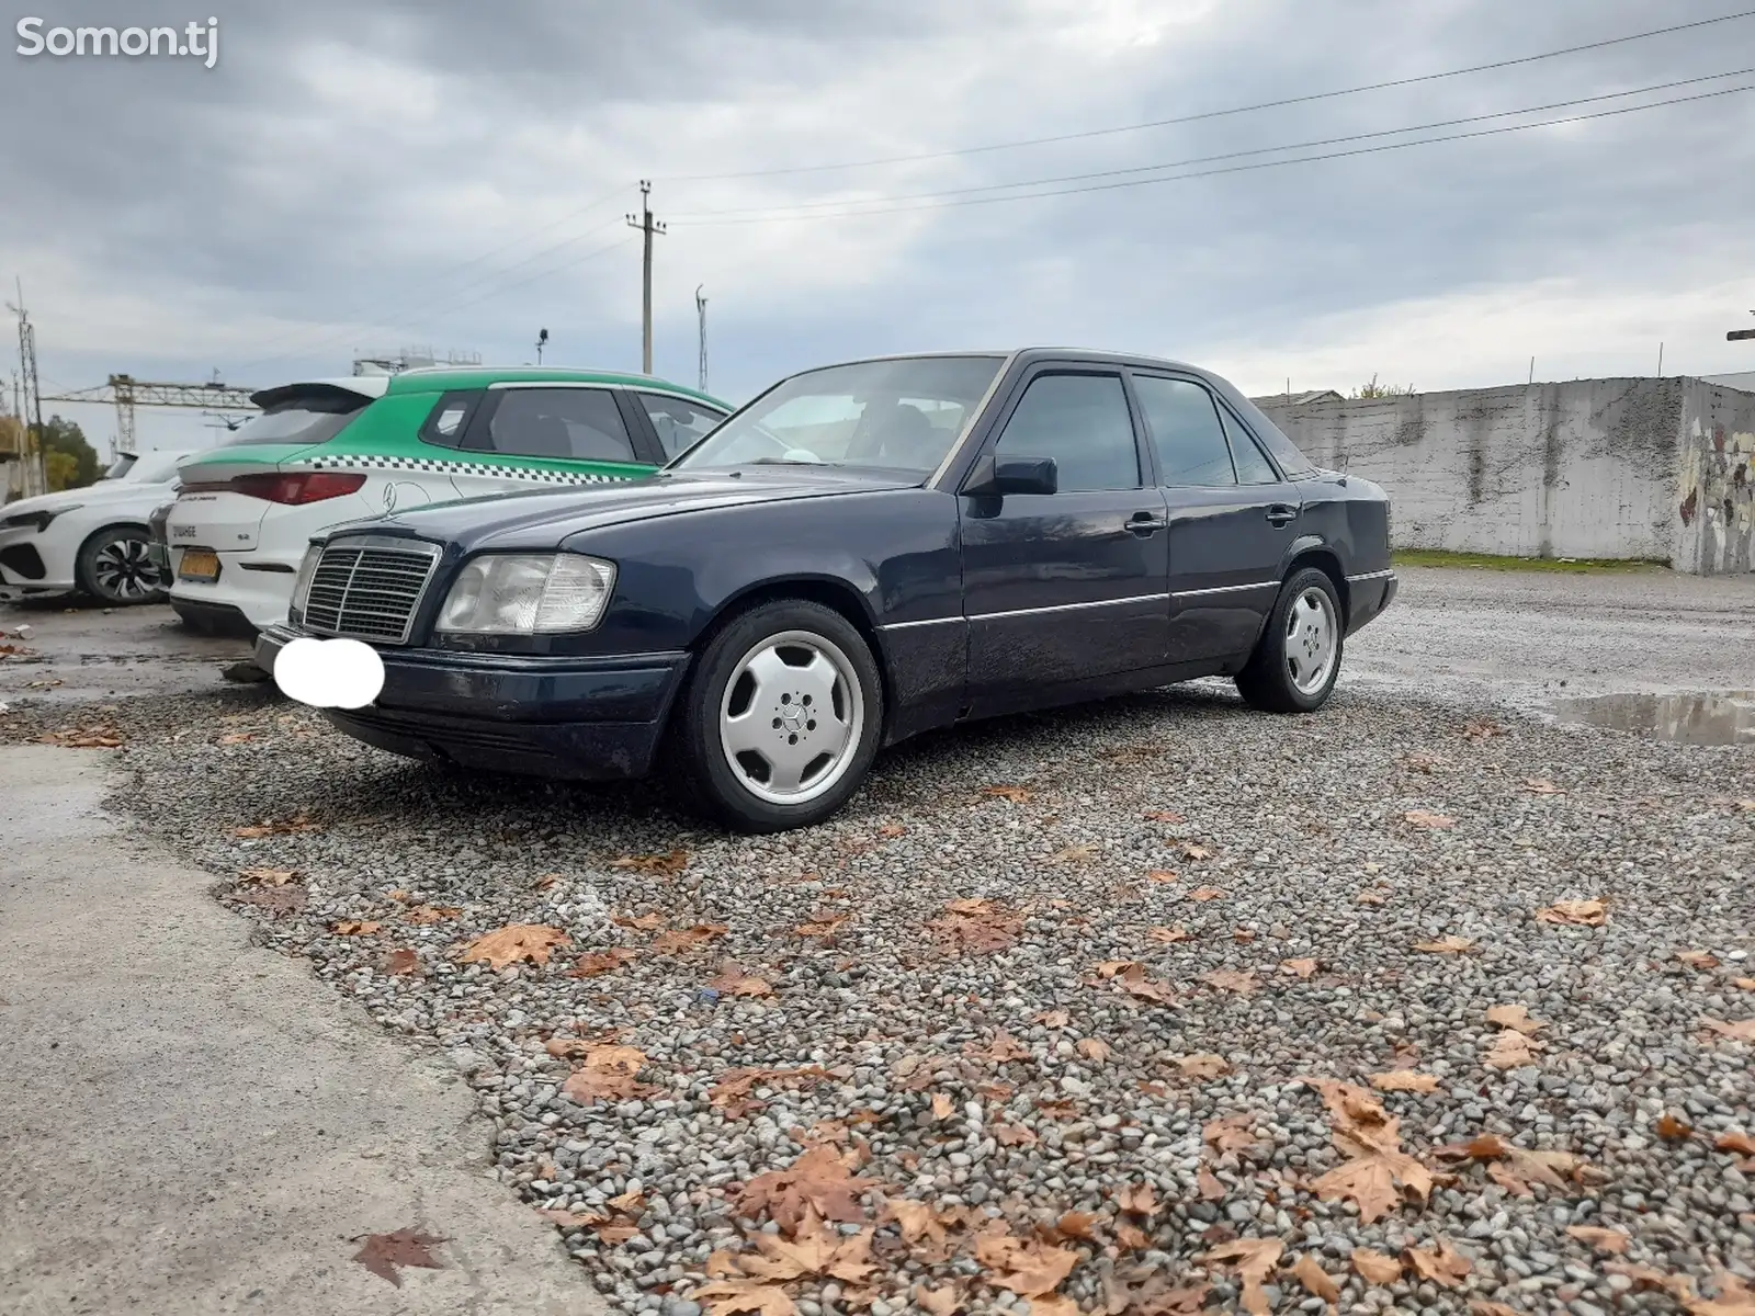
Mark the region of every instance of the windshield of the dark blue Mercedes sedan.
[[907, 356], [807, 370], [725, 421], [672, 470], [799, 463], [932, 474], [1006, 363]]

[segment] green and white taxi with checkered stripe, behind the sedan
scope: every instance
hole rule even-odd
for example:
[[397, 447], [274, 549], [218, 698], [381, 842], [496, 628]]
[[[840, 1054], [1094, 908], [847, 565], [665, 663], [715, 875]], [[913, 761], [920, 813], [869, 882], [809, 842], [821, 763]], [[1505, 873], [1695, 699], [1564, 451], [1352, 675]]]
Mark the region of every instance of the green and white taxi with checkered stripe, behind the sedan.
[[556, 484], [641, 479], [730, 407], [649, 375], [428, 367], [253, 397], [237, 435], [179, 468], [170, 605], [200, 630], [286, 619], [312, 535], [344, 521]]

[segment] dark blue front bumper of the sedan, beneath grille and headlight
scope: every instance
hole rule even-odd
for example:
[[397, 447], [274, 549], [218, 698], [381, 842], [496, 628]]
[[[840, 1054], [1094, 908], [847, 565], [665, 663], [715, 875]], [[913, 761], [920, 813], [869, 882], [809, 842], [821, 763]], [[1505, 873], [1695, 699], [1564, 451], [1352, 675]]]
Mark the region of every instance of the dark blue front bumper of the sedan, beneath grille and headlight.
[[[256, 665], [300, 632], [269, 626]], [[379, 649], [384, 688], [363, 709], [325, 709], [356, 740], [407, 758], [491, 772], [614, 781], [651, 770], [686, 653], [528, 658]]]

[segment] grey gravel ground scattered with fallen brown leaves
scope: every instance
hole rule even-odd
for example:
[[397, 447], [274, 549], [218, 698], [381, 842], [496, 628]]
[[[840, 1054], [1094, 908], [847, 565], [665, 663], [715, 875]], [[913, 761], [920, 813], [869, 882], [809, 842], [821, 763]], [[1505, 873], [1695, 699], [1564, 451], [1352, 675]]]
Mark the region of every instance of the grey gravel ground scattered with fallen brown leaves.
[[[1748, 747], [1202, 684], [741, 839], [260, 691], [0, 735], [98, 721], [263, 944], [449, 1053], [621, 1309], [1751, 1311], [1702, 1298], [1755, 1276]], [[507, 925], [546, 962], [460, 960]]]

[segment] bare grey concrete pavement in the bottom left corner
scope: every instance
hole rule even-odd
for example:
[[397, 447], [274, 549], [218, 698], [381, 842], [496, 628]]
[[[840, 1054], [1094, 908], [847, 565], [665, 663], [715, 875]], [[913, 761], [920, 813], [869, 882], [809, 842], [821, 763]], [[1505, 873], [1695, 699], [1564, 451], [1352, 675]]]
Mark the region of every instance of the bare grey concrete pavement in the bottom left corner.
[[[0, 1312], [604, 1312], [465, 1084], [105, 819], [107, 758], [0, 749]], [[404, 1227], [444, 1269], [349, 1260]]]

